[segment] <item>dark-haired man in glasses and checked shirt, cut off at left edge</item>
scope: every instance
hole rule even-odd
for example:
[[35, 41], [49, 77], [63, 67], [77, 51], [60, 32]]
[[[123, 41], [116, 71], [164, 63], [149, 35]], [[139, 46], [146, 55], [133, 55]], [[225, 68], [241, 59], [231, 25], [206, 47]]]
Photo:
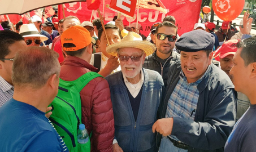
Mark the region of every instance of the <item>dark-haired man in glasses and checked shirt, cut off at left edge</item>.
[[10, 30], [0, 31], [0, 107], [14, 95], [11, 81], [12, 64], [16, 52], [27, 48], [23, 37]]

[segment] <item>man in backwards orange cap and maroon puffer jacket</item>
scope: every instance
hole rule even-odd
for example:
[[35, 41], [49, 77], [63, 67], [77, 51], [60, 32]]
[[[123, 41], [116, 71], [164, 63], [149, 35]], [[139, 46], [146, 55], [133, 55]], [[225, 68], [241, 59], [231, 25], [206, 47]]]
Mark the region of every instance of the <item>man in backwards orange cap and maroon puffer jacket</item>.
[[[62, 48], [67, 53], [59, 77], [75, 81], [83, 74], [97, 69], [90, 65], [92, 37], [82, 26], [71, 26], [60, 36]], [[91, 151], [112, 152], [114, 140], [114, 115], [109, 84], [102, 77], [94, 78], [80, 92], [82, 123], [90, 135]]]

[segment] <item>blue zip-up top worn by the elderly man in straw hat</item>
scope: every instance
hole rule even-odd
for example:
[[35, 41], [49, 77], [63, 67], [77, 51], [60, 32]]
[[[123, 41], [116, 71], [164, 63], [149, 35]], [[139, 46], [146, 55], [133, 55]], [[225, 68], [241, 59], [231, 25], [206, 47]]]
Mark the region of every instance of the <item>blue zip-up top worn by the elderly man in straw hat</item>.
[[164, 84], [157, 71], [143, 68], [142, 71], [144, 71], [144, 84], [137, 122], [134, 121], [128, 90], [122, 81], [122, 71], [106, 77], [114, 111], [115, 137], [123, 151], [157, 151], [152, 126], [157, 120], [157, 110], [162, 101]]

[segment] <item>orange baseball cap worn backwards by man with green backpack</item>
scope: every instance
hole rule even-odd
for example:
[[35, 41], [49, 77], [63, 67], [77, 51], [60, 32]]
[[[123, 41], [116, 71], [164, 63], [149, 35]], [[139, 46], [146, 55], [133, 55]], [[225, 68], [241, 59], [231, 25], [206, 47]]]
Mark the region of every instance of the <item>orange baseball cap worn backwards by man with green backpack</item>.
[[[92, 43], [90, 32], [82, 26], [72, 26], [65, 30], [60, 36], [60, 40], [64, 51], [77, 51]], [[64, 47], [65, 43], [72, 43], [75, 47]]]

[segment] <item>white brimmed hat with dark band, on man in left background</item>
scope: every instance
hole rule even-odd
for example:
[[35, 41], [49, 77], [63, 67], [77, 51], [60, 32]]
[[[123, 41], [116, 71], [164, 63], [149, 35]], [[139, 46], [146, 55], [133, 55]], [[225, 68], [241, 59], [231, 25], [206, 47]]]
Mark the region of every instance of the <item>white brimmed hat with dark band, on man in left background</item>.
[[46, 41], [48, 38], [45, 35], [39, 34], [34, 24], [23, 24], [20, 26], [20, 35], [25, 37], [40, 37], [41, 41]]

